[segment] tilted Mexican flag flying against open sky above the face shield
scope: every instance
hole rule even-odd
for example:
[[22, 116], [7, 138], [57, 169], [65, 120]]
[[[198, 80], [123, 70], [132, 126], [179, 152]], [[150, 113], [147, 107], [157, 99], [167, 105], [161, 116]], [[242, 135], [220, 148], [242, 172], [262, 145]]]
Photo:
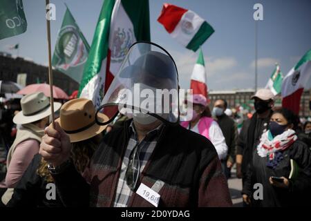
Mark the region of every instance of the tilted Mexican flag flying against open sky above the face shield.
[[158, 21], [173, 39], [194, 51], [214, 33], [214, 28], [195, 12], [169, 3], [164, 3]]

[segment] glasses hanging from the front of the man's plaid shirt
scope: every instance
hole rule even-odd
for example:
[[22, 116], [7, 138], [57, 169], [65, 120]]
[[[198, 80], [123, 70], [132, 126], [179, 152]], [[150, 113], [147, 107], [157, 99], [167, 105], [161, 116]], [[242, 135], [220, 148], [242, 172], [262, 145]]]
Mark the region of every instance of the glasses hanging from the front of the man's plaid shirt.
[[126, 169], [126, 184], [134, 191], [140, 175], [140, 157], [138, 154], [138, 145], [133, 148], [129, 156], [129, 164]]

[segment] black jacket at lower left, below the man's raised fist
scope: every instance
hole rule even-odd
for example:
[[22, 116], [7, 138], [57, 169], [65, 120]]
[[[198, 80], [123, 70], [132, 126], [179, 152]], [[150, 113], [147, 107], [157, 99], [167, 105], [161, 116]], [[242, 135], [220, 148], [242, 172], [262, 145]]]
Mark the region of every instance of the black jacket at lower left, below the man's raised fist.
[[52, 188], [44, 177], [37, 174], [37, 169], [41, 162], [41, 155], [37, 154], [32, 159], [21, 180], [14, 189], [12, 199], [6, 205], [7, 207], [62, 207], [62, 201], [56, 191], [56, 199], [48, 200], [46, 193]]

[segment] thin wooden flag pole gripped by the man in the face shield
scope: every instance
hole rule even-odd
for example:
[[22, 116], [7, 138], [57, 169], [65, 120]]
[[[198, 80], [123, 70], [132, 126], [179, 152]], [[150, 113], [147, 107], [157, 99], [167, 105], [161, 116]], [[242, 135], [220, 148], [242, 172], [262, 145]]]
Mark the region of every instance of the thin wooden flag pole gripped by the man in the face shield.
[[[49, 0], [46, 0], [46, 15], [48, 14]], [[48, 36], [48, 82], [50, 84], [50, 108], [52, 116], [53, 128], [55, 128], [55, 115], [54, 115], [54, 95], [53, 95], [53, 70], [52, 70], [52, 55], [50, 50], [50, 19], [46, 17], [46, 33]]]

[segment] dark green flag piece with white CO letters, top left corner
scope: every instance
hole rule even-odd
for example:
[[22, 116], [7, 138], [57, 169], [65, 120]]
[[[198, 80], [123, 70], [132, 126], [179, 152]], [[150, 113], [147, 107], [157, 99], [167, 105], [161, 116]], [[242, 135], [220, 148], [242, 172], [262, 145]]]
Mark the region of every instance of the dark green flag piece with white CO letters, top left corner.
[[23, 12], [23, 1], [0, 1], [0, 40], [20, 35], [27, 30], [27, 21]]

